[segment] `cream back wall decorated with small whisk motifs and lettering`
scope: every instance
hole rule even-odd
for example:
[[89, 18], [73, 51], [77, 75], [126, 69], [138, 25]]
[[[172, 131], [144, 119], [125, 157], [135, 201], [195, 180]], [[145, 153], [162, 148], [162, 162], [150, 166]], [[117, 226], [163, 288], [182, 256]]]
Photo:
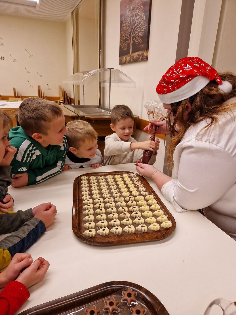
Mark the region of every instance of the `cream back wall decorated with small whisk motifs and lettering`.
[[58, 96], [67, 77], [65, 22], [1, 15], [0, 29], [0, 94], [13, 95], [15, 87], [21, 95], [37, 95], [41, 85], [45, 95]]

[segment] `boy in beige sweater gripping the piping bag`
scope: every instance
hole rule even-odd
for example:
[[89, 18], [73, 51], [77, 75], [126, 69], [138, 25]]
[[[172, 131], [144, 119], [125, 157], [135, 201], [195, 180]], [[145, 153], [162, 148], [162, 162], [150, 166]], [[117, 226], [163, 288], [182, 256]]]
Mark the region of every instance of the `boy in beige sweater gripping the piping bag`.
[[131, 137], [133, 124], [133, 113], [128, 106], [116, 105], [111, 110], [110, 127], [115, 133], [105, 138], [104, 165], [135, 163], [142, 159], [143, 150], [153, 151], [149, 164], [155, 163], [159, 139], [137, 142]]

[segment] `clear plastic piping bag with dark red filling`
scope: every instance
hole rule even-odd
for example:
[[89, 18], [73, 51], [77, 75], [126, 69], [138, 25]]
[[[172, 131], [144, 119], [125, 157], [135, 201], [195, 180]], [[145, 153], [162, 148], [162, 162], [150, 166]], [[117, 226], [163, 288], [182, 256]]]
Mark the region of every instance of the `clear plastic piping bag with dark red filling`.
[[[167, 117], [166, 109], [163, 107], [163, 104], [160, 103], [160, 101], [150, 100], [146, 104], [144, 104], [144, 107], [147, 110], [148, 119], [149, 122], [159, 122]], [[150, 140], [155, 141], [156, 133], [159, 126], [156, 126], [152, 124], [152, 135], [150, 137]], [[152, 157], [153, 152], [150, 150], [144, 150], [143, 151], [143, 158], [142, 163], [148, 164], [150, 161], [150, 158]]]

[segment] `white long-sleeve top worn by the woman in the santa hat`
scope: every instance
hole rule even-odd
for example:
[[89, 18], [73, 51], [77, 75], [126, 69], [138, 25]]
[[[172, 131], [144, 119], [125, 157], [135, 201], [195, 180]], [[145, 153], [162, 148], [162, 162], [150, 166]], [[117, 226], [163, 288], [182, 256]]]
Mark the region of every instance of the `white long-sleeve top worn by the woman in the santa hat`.
[[[228, 104], [236, 102], [236, 97]], [[205, 216], [236, 240], [236, 106], [219, 123], [188, 129], [173, 155], [177, 179], [161, 189], [178, 212], [202, 209]]]

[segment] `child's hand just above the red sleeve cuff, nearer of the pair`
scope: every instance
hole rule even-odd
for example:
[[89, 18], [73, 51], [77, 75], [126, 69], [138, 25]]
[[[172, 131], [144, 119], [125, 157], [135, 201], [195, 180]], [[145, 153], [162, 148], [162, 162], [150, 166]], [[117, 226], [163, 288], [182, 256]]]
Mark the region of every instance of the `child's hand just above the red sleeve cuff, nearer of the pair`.
[[16, 281], [21, 282], [26, 288], [29, 288], [44, 278], [49, 266], [48, 261], [39, 257], [32, 263], [32, 265], [21, 272], [20, 276], [16, 278]]

